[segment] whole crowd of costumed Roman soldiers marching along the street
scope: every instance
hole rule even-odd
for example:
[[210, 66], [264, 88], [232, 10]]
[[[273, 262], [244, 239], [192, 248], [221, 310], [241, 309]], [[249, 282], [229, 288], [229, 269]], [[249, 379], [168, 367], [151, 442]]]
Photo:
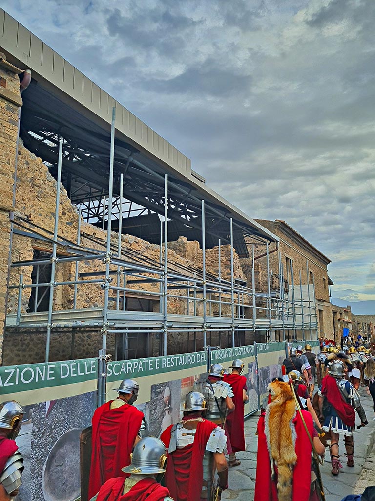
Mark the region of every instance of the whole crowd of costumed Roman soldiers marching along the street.
[[[368, 385], [375, 420], [375, 362], [366, 349], [322, 345], [317, 355], [309, 345], [290, 349], [283, 376], [268, 385], [268, 403], [258, 420], [254, 501], [324, 499], [319, 462], [327, 438], [332, 475], [342, 468], [340, 437], [346, 466], [354, 466], [355, 411], [360, 426], [368, 424], [357, 380]], [[240, 464], [236, 452], [245, 450], [243, 368], [239, 359], [230, 373], [213, 364], [201, 392], [186, 395], [182, 418], [160, 438], [147, 436], [144, 415], [133, 405], [138, 383], [123, 380], [117, 398], [92, 417], [87, 499], [219, 501], [228, 486], [228, 468]], [[23, 460], [14, 439], [22, 418], [17, 402], [0, 404], [0, 501], [11, 499], [21, 484]]]

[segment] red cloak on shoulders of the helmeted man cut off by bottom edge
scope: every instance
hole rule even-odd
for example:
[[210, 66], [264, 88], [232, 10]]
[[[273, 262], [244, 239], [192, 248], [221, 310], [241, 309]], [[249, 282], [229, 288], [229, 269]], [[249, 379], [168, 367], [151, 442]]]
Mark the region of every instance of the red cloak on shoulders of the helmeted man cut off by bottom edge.
[[97, 501], [162, 501], [169, 495], [169, 490], [154, 478], [139, 480], [125, 494], [122, 494], [123, 482], [123, 476], [107, 480], [99, 490]]

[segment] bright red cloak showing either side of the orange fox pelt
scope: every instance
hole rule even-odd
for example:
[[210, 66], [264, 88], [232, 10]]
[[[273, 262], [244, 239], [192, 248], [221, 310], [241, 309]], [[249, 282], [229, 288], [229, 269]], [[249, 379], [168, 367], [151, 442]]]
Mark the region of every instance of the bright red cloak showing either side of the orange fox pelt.
[[[303, 419], [308, 432], [313, 437], [313, 421], [311, 414], [302, 410]], [[293, 468], [291, 501], [308, 501], [311, 483], [311, 444], [297, 412], [293, 419], [297, 439], [295, 453], [297, 462]], [[277, 501], [277, 480], [271, 478], [267, 440], [264, 433], [264, 414], [259, 417], [257, 425], [258, 451], [256, 456], [256, 479], [254, 501]], [[276, 468], [275, 468], [276, 470]]]

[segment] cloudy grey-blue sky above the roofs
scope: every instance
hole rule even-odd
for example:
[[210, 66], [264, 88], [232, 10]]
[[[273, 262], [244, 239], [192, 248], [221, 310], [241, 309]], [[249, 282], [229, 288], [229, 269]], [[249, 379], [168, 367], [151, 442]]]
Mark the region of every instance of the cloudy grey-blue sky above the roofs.
[[251, 217], [375, 299], [373, 0], [0, 0]]

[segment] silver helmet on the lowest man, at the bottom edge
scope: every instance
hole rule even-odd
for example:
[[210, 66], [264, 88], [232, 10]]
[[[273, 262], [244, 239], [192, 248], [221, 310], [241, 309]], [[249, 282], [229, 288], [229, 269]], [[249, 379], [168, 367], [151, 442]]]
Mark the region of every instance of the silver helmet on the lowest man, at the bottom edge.
[[125, 473], [152, 474], [165, 472], [165, 445], [155, 437], [144, 437], [130, 455], [131, 464], [122, 468]]

